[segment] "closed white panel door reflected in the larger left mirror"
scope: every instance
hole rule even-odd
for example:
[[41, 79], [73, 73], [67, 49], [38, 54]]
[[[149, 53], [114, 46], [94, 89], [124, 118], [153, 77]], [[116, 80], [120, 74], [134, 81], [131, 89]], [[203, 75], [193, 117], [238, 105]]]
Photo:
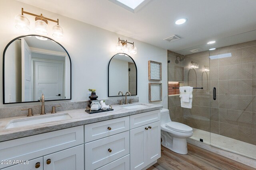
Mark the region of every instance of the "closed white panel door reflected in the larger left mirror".
[[63, 95], [63, 63], [50, 61], [33, 61], [34, 67], [34, 100], [64, 99]]

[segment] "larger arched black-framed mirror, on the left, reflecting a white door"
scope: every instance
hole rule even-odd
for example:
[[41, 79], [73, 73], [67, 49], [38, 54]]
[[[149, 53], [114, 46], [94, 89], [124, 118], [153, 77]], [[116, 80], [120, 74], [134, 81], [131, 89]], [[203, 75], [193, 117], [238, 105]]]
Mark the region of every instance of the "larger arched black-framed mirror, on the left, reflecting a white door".
[[71, 100], [71, 59], [58, 42], [22, 35], [3, 53], [3, 104]]

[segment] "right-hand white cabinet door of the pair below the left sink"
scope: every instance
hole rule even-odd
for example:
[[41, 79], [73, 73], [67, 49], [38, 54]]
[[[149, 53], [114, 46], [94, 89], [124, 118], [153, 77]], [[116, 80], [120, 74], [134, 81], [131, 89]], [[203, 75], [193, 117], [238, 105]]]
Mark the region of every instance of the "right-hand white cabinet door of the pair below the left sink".
[[84, 145], [44, 156], [44, 170], [84, 170]]

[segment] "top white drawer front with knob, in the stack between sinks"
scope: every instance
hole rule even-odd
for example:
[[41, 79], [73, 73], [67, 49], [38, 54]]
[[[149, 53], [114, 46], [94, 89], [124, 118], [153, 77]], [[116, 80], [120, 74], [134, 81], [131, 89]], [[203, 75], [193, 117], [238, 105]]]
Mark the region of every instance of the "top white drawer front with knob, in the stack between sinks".
[[129, 116], [126, 116], [84, 125], [84, 143], [128, 131], [129, 121]]

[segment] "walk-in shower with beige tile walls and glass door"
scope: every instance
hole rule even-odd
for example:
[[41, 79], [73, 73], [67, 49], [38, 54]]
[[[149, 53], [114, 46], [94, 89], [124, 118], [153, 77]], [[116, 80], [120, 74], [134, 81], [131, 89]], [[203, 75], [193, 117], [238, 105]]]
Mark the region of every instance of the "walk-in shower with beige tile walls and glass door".
[[[172, 121], [192, 127], [191, 139], [256, 160], [256, 31], [168, 51], [168, 60]], [[192, 109], [180, 107], [172, 91], [180, 86], [203, 87], [193, 90]]]

